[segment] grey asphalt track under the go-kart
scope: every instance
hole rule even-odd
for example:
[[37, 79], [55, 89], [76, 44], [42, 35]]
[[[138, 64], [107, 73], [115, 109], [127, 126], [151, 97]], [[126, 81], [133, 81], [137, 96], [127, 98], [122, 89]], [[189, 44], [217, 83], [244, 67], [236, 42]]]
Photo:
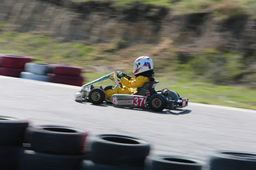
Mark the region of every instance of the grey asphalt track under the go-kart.
[[[0, 115], [26, 117], [34, 125], [69, 125], [97, 133], [139, 137], [151, 154], [203, 161], [214, 150], [256, 153], [256, 111], [189, 103], [163, 111], [75, 102], [79, 87], [0, 76]], [[186, 97], [186, 94], [182, 94]]]

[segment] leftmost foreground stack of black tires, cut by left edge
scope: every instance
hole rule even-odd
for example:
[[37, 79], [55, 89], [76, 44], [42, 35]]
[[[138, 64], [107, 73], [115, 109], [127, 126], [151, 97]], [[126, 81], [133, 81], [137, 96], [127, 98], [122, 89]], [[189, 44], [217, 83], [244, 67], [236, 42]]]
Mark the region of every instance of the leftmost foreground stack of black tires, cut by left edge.
[[0, 167], [17, 170], [29, 120], [0, 116]]

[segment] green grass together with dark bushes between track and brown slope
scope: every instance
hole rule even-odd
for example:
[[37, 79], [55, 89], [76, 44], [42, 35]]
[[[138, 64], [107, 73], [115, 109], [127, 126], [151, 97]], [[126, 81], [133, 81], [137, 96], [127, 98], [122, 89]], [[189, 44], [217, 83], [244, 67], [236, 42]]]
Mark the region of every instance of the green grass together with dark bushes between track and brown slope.
[[[0, 24], [0, 29], [3, 25]], [[101, 68], [102, 65], [108, 65], [115, 68], [126, 62], [127, 67], [121, 65], [119, 68], [131, 75], [134, 59], [142, 55], [152, 56], [157, 48], [156, 45], [137, 45], [120, 49], [122, 43], [122, 40], [92, 45], [84, 45], [83, 42], [59, 43], [50, 37], [33, 33], [3, 32], [0, 36], [1, 54], [26, 55], [37, 59], [36, 62], [80, 66], [85, 68], [83, 76], [86, 82], [117, 69], [97, 71], [91, 66]], [[236, 77], [250, 70], [245, 67], [239, 54], [206, 49], [188, 55], [173, 45], [162, 48], [166, 49], [168, 55], [157, 52], [158, 56], [153, 57], [155, 78], [160, 81], [157, 88], [177, 91], [181, 96], [190, 98], [190, 102], [256, 110], [256, 74], [248, 74], [246, 87], [236, 85]], [[108, 81], [102, 85], [108, 83], [112, 84]], [[232, 83], [233, 86], [226, 85]]]

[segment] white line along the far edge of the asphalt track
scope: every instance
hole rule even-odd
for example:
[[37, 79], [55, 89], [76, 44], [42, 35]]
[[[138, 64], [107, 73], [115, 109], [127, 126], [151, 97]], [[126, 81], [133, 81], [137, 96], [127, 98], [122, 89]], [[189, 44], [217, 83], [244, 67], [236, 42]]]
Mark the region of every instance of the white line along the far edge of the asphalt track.
[[[55, 87], [73, 88], [73, 89], [76, 89], [77, 91], [80, 89], [79, 86], [57, 84], [57, 83], [52, 83], [52, 82], [41, 82], [41, 81], [31, 80], [31, 79], [20, 79], [20, 78], [15, 78], [15, 77], [6, 77], [6, 76], [0, 76], [0, 79], [17, 79], [17, 81], [30, 82], [32, 84], [37, 84], [37, 85], [49, 85], [49, 86], [55, 86]], [[241, 111], [241, 112], [247, 112], [247, 113], [256, 113], [256, 111], [253, 111], [253, 110], [250, 110], [250, 109], [232, 108], [232, 107], [219, 106], [219, 105], [207, 105], [207, 104], [193, 103], [193, 102], [189, 102], [189, 105], [198, 106], [198, 107], [226, 109], [226, 110], [230, 110], [230, 111]]]

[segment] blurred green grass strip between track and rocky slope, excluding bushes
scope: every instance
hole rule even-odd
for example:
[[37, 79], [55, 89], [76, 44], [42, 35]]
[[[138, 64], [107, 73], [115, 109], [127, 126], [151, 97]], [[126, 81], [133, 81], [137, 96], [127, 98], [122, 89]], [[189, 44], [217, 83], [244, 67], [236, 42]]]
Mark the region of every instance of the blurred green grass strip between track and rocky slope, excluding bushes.
[[[152, 56], [151, 54], [154, 54], [154, 51], [157, 52], [156, 49], [159, 48], [143, 45], [119, 50], [116, 49], [118, 43], [118, 41], [93, 45], [85, 45], [81, 42], [58, 43], [40, 34], [4, 32], [0, 36], [0, 53], [34, 57], [37, 59], [36, 62], [83, 67], [86, 71], [83, 74], [86, 77], [84, 83], [87, 83], [117, 70], [122, 70], [132, 75], [131, 69], [133, 68], [134, 59], [142, 55]], [[153, 57], [154, 65], [156, 65], [155, 79], [160, 81], [157, 89], [169, 88], [177, 91], [181, 96], [188, 97], [190, 102], [256, 110], [255, 89], [213, 85], [204, 83], [200, 79], [194, 79], [193, 73], [195, 71], [186, 70], [187, 65], [184, 67], [185, 71], [177, 71], [184, 65], [179, 64], [173, 55], [168, 53], [168, 55], [163, 54], [161, 57]], [[171, 57], [164, 58], [165, 56]], [[172, 63], [172, 67], [169, 67], [170, 64], [166, 64], [167, 59], [169, 63]], [[235, 60], [232, 60], [230, 64], [235, 65], [236, 63], [232, 63], [233, 61]], [[123, 63], [127, 63], [127, 65]], [[110, 68], [105, 68], [104, 66]], [[157, 68], [157, 66], [164, 68]], [[192, 68], [189, 67], [189, 69]], [[236, 68], [231, 67], [230, 70], [236, 71]], [[102, 82], [102, 85], [113, 85], [113, 82]]]

